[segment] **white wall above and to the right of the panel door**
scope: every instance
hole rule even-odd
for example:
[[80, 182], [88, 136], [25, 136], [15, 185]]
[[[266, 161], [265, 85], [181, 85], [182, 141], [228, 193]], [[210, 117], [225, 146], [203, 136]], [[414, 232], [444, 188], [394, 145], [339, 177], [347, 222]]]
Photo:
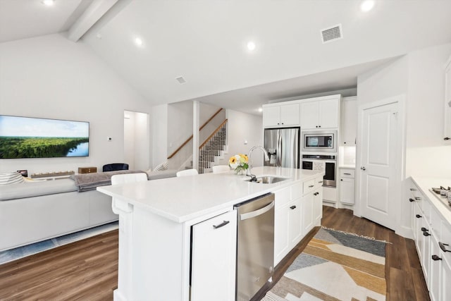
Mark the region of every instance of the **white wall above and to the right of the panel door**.
[[[450, 54], [451, 44], [421, 49], [358, 78], [359, 104], [399, 94], [406, 96], [406, 149], [401, 154], [405, 158], [406, 178], [451, 176], [451, 147], [443, 142], [444, 65]], [[409, 235], [410, 206], [403, 202], [402, 183], [398, 189], [398, 223], [402, 226], [398, 230]]]

